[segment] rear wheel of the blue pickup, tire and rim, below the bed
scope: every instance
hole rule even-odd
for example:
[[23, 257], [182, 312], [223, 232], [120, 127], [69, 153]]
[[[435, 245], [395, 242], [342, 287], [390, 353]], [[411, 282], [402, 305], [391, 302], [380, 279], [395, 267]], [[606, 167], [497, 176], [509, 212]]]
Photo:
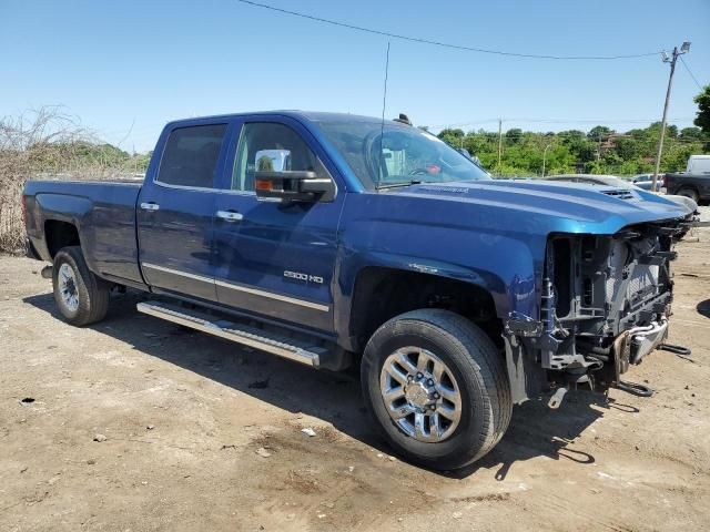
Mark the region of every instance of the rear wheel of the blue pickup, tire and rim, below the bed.
[[[64, 274], [72, 276], [71, 282], [64, 280]], [[89, 270], [81, 247], [68, 246], [57, 252], [52, 287], [54, 301], [67, 323], [83, 327], [105, 317], [111, 285]], [[67, 294], [73, 298], [68, 298]]]

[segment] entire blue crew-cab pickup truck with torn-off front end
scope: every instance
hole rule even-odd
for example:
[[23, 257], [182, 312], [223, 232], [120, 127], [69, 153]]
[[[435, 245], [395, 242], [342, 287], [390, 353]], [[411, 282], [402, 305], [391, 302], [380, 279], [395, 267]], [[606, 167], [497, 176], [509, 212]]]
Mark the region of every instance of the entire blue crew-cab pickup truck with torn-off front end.
[[400, 454], [466, 466], [514, 405], [620, 386], [666, 338], [687, 213], [643, 191], [491, 180], [406, 122], [171, 122], [142, 184], [29, 182], [29, 253], [52, 263], [69, 324], [131, 288], [156, 318], [357, 365]]

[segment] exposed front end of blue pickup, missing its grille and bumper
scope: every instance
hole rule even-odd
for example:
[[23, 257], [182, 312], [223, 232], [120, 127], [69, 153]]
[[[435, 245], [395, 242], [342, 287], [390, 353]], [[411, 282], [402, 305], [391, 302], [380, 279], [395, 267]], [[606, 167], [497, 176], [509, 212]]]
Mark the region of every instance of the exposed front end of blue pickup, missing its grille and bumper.
[[663, 342], [671, 315], [678, 222], [646, 223], [615, 235], [548, 239], [539, 319], [511, 313], [505, 327], [515, 402], [585, 385], [628, 387], [621, 375]]

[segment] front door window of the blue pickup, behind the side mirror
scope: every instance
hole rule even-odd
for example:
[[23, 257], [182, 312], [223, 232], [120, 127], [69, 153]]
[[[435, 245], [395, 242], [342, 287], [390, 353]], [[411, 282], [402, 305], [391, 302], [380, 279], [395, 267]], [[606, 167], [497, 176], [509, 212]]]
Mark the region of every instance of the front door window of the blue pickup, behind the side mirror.
[[233, 191], [253, 191], [256, 171], [323, 172], [315, 153], [291, 127], [277, 123], [242, 126], [232, 172]]

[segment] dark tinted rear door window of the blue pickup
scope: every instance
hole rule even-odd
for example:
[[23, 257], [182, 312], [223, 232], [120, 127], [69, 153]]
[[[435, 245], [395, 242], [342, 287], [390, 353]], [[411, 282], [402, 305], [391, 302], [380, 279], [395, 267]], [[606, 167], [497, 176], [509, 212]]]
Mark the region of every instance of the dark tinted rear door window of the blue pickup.
[[160, 162], [156, 181], [168, 185], [212, 188], [226, 124], [173, 130]]

